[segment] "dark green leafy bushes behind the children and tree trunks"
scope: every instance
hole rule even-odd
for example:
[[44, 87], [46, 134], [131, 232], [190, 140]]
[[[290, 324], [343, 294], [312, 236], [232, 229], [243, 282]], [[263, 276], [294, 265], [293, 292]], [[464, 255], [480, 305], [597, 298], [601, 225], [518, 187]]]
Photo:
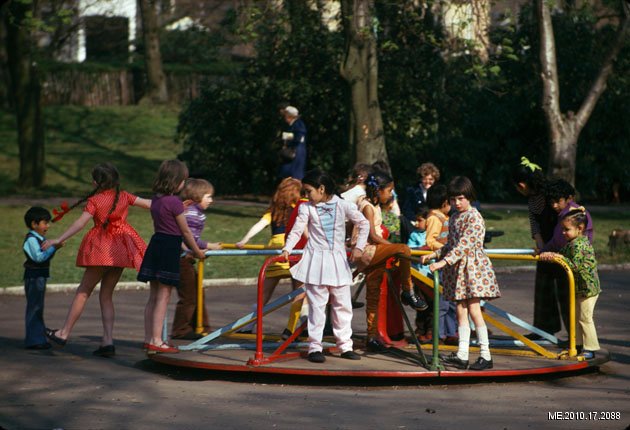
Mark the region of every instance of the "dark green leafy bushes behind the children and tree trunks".
[[[344, 177], [348, 89], [339, 78], [340, 32], [299, 2], [286, 15], [251, 9], [258, 57], [230, 82], [208, 84], [180, 116], [182, 158], [231, 193], [269, 192], [275, 184], [282, 128], [277, 103], [290, 101], [309, 129], [309, 164]], [[379, 89], [387, 150], [397, 185], [433, 161], [448, 179], [470, 176], [484, 200], [517, 198], [510, 172], [522, 155], [545, 166], [547, 131], [540, 108], [538, 30], [531, 8], [517, 26], [493, 30], [494, 49], [482, 64], [467, 51], [444, 54], [429, 11], [405, 2], [377, 2]], [[563, 111], [577, 111], [613, 29], [588, 5], [554, 17]], [[608, 201], [613, 181], [628, 192], [630, 47], [619, 55], [608, 89], [579, 141], [577, 188]], [[611, 157], [611, 154], [618, 157]], [[614, 158], [614, 159], [613, 159]], [[403, 196], [404, 197], [404, 196]]]

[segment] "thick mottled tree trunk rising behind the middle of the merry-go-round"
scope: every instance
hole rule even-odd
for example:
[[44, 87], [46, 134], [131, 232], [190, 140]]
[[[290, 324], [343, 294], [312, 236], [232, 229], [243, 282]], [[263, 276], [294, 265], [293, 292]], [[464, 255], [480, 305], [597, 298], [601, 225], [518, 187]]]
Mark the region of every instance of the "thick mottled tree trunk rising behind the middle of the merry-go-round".
[[383, 119], [378, 103], [378, 59], [372, 31], [372, 1], [342, 0], [346, 52], [341, 76], [351, 89], [356, 162], [388, 162]]

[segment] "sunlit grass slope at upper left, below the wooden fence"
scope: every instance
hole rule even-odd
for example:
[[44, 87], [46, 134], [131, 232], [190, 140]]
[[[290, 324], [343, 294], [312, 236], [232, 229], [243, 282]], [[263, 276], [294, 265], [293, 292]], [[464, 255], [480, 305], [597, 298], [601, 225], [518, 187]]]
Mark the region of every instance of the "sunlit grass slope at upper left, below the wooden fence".
[[[95, 164], [111, 161], [125, 189], [147, 194], [162, 160], [175, 158], [178, 111], [167, 107], [49, 106], [46, 185], [29, 196], [80, 196], [91, 190]], [[0, 111], [0, 195], [17, 190], [19, 154], [15, 116]]]

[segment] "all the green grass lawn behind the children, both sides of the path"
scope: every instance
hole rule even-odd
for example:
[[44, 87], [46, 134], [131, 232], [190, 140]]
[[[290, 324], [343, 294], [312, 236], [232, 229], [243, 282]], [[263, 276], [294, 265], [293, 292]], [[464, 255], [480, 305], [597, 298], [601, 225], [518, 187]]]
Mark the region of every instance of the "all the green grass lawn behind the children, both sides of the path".
[[[29, 197], [82, 196], [91, 190], [90, 172], [101, 161], [111, 161], [119, 169], [122, 188], [135, 194], [150, 195], [151, 183], [162, 160], [175, 158], [181, 147], [174, 141], [178, 112], [174, 108], [145, 106], [80, 107], [50, 106], [46, 120], [46, 185], [38, 190], [18, 190], [18, 149], [15, 117], [0, 111], [0, 195], [26, 194]], [[217, 190], [221, 194], [221, 190]], [[27, 199], [24, 199], [27, 201]], [[70, 199], [69, 199], [70, 200]], [[70, 200], [72, 202], [72, 200]], [[21, 251], [26, 228], [23, 215], [30, 205], [0, 205], [0, 287], [22, 284]], [[49, 208], [52, 209], [52, 208]], [[233, 243], [262, 215], [260, 206], [215, 205], [208, 211], [204, 239]], [[79, 213], [68, 215], [53, 225], [50, 237], [65, 230]], [[529, 225], [525, 211], [484, 211], [488, 229], [505, 231], [494, 238], [490, 248], [529, 248]], [[600, 263], [630, 261], [626, 251], [608, 255], [608, 233], [613, 228], [630, 227], [630, 214], [599, 210], [593, 213], [595, 250]], [[152, 233], [148, 212], [132, 208], [129, 222], [148, 241]], [[84, 232], [69, 240], [52, 263], [51, 283], [78, 282], [83, 271], [74, 266], [76, 250]], [[269, 232], [252, 243], [264, 244]], [[216, 257], [206, 263], [207, 278], [254, 277], [263, 257]], [[499, 261], [497, 266], [523, 264]], [[527, 263], [525, 263], [527, 264]], [[134, 280], [135, 272], [126, 270], [123, 280]]]

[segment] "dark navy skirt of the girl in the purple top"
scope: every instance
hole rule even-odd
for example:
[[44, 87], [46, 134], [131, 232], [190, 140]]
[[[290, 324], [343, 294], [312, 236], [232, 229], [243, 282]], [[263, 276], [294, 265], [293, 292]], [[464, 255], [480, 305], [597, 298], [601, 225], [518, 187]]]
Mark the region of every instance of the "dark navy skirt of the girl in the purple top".
[[182, 237], [155, 233], [144, 254], [138, 281], [158, 281], [172, 287], [179, 286], [179, 259]]

